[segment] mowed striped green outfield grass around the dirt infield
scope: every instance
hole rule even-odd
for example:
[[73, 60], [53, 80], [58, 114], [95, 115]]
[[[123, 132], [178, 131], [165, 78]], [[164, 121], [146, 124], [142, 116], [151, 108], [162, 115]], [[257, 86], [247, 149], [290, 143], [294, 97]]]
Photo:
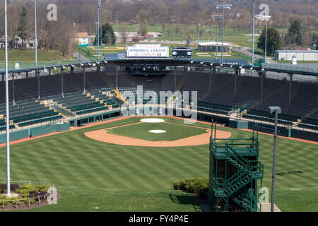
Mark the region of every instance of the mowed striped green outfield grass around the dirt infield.
[[[197, 211], [201, 200], [174, 191], [172, 182], [208, 177], [208, 145], [179, 148], [127, 147], [93, 141], [83, 133], [138, 122], [114, 121], [11, 145], [11, 179], [49, 181], [61, 201], [30, 211]], [[183, 123], [181, 119], [165, 119]], [[208, 124], [196, 123], [204, 129]], [[250, 132], [229, 128], [232, 138]], [[271, 188], [273, 136], [259, 135], [264, 186]], [[278, 139], [276, 204], [283, 211], [318, 211], [317, 145]], [[6, 162], [6, 148], [0, 148]], [[0, 165], [0, 180], [6, 165]], [[95, 207], [99, 207], [98, 210]]]

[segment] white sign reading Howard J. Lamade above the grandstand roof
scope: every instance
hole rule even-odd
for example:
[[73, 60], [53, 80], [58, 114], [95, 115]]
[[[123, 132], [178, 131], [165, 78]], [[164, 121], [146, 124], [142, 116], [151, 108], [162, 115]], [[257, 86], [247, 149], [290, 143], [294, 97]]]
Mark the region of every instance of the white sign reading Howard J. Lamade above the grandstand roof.
[[135, 44], [126, 49], [127, 57], [139, 58], [168, 58], [169, 47], [160, 44]]

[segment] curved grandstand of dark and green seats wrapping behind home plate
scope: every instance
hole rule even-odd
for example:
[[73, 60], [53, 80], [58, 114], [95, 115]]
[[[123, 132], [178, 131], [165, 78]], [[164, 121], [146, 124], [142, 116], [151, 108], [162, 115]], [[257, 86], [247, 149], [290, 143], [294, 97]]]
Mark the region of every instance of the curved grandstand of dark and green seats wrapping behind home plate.
[[[261, 101], [261, 79], [255, 74], [251, 76], [237, 76], [237, 93], [234, 94], [235, 80], [232, 73], [216, 73], [211, 77], [210, 73], [192, 71], [177, 71], [177, 83], [175, 84], [175, 71], [167, 73], [163, 77], [131, 76], [128, 72], [118, 72], [113, 67], [107, 67], [106, 71], [86, 72], [86, 90], [94, 99], [83, 95], [83, 73], [64, 73], [64, 97], [61, 96], [61, 74], [52, 76], [40, 76], [41, 100], [54, 100], [61, 106], [54, 109], [64, 116], [72, 116], [71, 112], [87, 114], [99, 109], [120, 107], [123, 102], [116, 97], [113, 88], [118, 86], [120, 91], [131, 90], [136, 94], [137, 85], [143, 85], [143, 90], [174, 91], [175, 85], [180, 91], [198, 91], [201, 103], [198, 109], [206, 112], [228, 114], [235, 105], [248, 107], [249, 118], [272, 121], [273, 115], [269, 114], [269, 105], [278, 105], [282, 109], [279, 114], [281, 122], [291, 121], [302, 124], [317, 125], [317, 84], [293, 81], [292, 98], [288, 100], [289, 81], [283, 79], [264, 79], [264, 95]], [[12, 81], [9, 87], [12, 86]], [[2, 85], [2, 86], [1, 86]], [[0, 82], [4, 87], [4, 81]], [[10, 120], [14, 123], [33, 121], [41, 118], [54, 117], [56, 112], [36, 102], [37, 78], [29, 77], [15, 80], [15, 100], [13, 105], [13, 89], [9, 90]], [[105, 95], [105, 92], [107, 93]], [[110, 97], [110, 94], [113, 95]], [[159, 96], [158, 96], [159, 97]], [[144, 100], [144, 102], [148, 102]], [[0, 89], [0, 115], [5, 117], [5, 89]], [[160, 100], [158, 100], [160, 102]], [[203, 102], [209, 104], [203, 104]], [[213, 103], [213, 104], [211, 104]], [[64, 108], [65, 107], [65, 108]], [[316, 110], [315, 110], [316, 109]], [[75, 114], [74, 114], [75, 115]], [[260, 118], [261, 117], [261, 118]], [[302, 119], [307, 117], [305, 119]], [[290, 124], [288, 122], [287, 124]], [[0, 126], [4, 121], [0, 120]]]

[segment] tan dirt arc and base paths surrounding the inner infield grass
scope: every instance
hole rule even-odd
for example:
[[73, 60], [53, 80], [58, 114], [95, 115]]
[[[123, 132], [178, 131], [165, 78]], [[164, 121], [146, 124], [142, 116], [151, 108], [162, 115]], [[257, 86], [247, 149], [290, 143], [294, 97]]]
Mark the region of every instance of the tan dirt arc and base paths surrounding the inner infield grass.
[[[124, 126], [129, 126], [129, 124]], [[196, 126], [192, 126], [192, 127], [196, 127]], [[114, 128], [116, 127], [108, 128], [108, 129], [114, 129]], [[201, 128], [201, 127], [198, 127], [198, 128]], [[204, 134], [197, 135], [197, 136], [190, 136], [188, 138], [182, 138], [176, 141], [146, 141], [139, 138], [130, 138], [127, 136], [119, 136], [119, 135], [110, 134], [110, 133], [107, 133], [108, 129], [90, 131], [84, 134], [88, 138], [91, 138], [95, 141], [101, 141], [101, 142], [112, 143], [117, 145], [141, 146], [141, 147], [183, 147], [183, 146], [206, 145], [210, 143], [210, 136], [211, 136], [211, 129], [206, 129], [206, 133]], [[231, 133], [228, 131], [217, 131], [216, 133], [217, 138], [230, 138], [230, 136], [231, 136]]]

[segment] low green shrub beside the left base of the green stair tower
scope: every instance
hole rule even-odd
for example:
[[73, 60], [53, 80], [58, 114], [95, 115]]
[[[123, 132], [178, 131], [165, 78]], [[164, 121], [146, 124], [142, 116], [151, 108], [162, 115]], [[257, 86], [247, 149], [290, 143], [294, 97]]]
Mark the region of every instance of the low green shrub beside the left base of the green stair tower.
[[185, 179], [172, 184], [175, 190], [198, 194], [201, 198], [208, 196], [208, 178], [196, 177]]

